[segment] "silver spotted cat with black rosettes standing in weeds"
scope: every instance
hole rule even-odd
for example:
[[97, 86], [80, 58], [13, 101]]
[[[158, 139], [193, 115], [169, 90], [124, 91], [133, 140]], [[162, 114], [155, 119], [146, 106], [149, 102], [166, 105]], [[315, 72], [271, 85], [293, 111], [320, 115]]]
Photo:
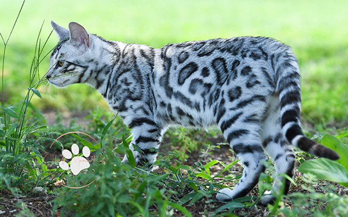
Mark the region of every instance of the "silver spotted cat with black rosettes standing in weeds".
[[[59, 43], [50, 57], [48, 82], [95, 88], [131, 128], [130, 149], [137, 165], [151, 169], [169, 126], [218, 125], [244, 165], [238, 184], [216, 195], [230, 201], [256, 186], [265, 171], [264, 151], [275, 162], [276, 174], [290, 177], [296, 160], [291, 144], [312, 155], [340, 158], [302, 133], [297, 59], [274, 39], [211, 39], [154, 49], [105, 40], [76, 22], [69, 23], [69, 30], [51, 24]], [[277, 176], [275, 189], [281, 180]], [[289, 187], [286, 180], [285, 194]], [[268, 195], [262, 203], [273, 199]]]

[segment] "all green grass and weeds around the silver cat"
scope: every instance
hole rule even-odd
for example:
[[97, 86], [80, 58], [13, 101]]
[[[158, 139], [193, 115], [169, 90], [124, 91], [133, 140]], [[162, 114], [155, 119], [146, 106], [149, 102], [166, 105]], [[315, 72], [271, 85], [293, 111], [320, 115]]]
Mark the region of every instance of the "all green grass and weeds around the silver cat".
[[[5, 39], [21, 3], [0, 0], [0, 32]], [[41, 23], [46, 20], [41, 33], [43, 39], [51, 32], [50, 20], [63, 26], [67, 26], [70, 21], [77, 21], [89, 32], [106, 39], [148, 44], [155, 48], [167, 43], [219, 37], [262, 35], [276, 38], [290, 45], [298, 56], [303, 77], [304, 119], [315, 124], [321, 133], [330, 131], [340, 134], [347, 132], [347, 128], [326, 126], [342, 126], [348, 123], [348, 29], [344, 28], [348, 21], [345, 10], [347, 6], [348, 2], [343, 0], [99, 0], [97, 3], [82, 0], [28, 0], [24, 4], [14, 34], [6, 45], [3, 70], [4, 107], [25, 105], [26, 113], [21, 114], [20, 109], [11, 107], [17, 114], [7, 109], [6, 114], [11, 114], [11, 118], [7, 115], [7, 123], [4, 124], [0, 118], [0, 185], [3, 187], [0, 192], [13, 196], [21, 193], [30, 195], [32, 187], [44, 186], [50, 193], [59, 196], [54, 202], [54, 211], [59, 205], [75, 211], [77, 216], [114, 216], [118, 212], [122, 216], [162, 217], [173, 216], [174, 212], [177, 214], [177, 210], [185, 216], [191, 216], [187, 210], [197, 204], [206, 205], [207, 210], [202, 210], [205, 216], [234, 216], [237, 214], [236, 208], [253, 210], [259, 200], [255, 197], [241, 198], [226, 204], [213, 200], [214, 190], [222, 185], [233, 185], [241, 176], [239, 172], [231, 173], [235, 169], [232, 166], [238, 164], [236, 159], [230, 158], [230, 164], [211, 159], [215, 144], [211, 144], [209, 138], [216, 137], [219, 131], [199, 133], [182, 128], [170, 131], [165, 136], [170, 143], [166, 148], [169, 152], [160, 153], [156, 163], [160, 174], [146, 173], [141, 168], [134, 168], [131, 161], [129, 165], [120, 163], [122, 154], [130, 155], [127, 145], [130, 141], [130, 138], [127, 139], [129, 129], [122, 125], [120, 118], [108, 123], [114, 114], [107, 112], [106, 103], [95, 90], [87, 85], [72, 85], [67, 89], [41, 85], [38, 91], [42, 99], [34, 96], [35, 89], [33, 92], [28, 91], [27, 87], [32, 87], [36, 82], [35, 79], [28, 81], [31, 57], [35, 48], [44, 43], [36, 41]], [[51, 37], [43, 49], [43, 54], [49, 53], [56, 44], [57, 39]], [[0, 50], [3, 50], [2, 46], [0, 44]], [[36, 57], [37, 54], [36, 51]], [[2, 58], [0, 54], [0, 59]], [[37, 76], [31, 74], [30, 78], [42, 77], [47, 67], [48, 59], [39, 64], [39, 70], [35, 69]], [[24, 97], [29, 95], [34, 96], [31, 104], [28, 101], [23, 102]], [[47, 151], [47, 144], [58, 135], [67, 131], [86, 130], [86, 127], [74, 121], [65, 126], [61, 124], [60, 118], [57, 119], [58, 123], [47, 127], [44, 120], [33, 122], [41, 118], [40, 110], [56, 108], [58, 116], [64, 110], [91, 110], [87, 131], [103, 147], [97, 151], [100, 162], [103, 163], [88, 171], [92, 174], [81, 174], [74, 179], [69, 172], [56, 168], [58, 163], [44, 162], [42, 159], [39, 150]], [[40, 126], [39, 123], [44, 125]], [[23, 127], [23, 130], [18, 126]], [[320, 135], [317, 137], [321, 138]], [[72, 144], [81, 141], [84, 141], [84, 145], [91, 146], [88, 141], [76, 136], [64, 142]], [[347, 138], [343, 141], [347, 141]], [[7, 142], [10, 143], [9, 146]], [[188, 156], [191, 152], [197, 152], [197, 147], [202, 149], [199, 160], [193, 165], [186, 165]], [[302, 163], [307, 157], [308, 155], [299, 153], [298, 161]], [[217, 165], [220, 167], [215, 171]], [[231, 170], [229, 175], [222, 175], [226, 170]], [[253, 195], [262, 195], [270, 187], [270, 174], [273, 170], [273, 166], [269, 165], [266, 174], [262, 174], [260, 179], [259, 192], [254, 190]], [[73, 183], [80, 184], [97, 178], [95, 175], [98, 171], [100, 177], [88, 190], [56, 190], [53, 186], [57, 179], [73, 180]], [[318, 183], [311, 181], [312, 179], [316, 180], [311, 177], [295, 177], [293, 189], [306, 189], [311, 194], [295, 193], [285, 197], [293, 200], [294, 209], [284, 206], [286, 200], [279, 194], [276, 203], [268, 206], [263, 215], [346, 215], [347, 196], [340, 198], [333, 193], [331, 187], [323, 187], [329, 192], [327, 195], [316, 193], [312, 186]], [[303, 205], [309, 208], [303, 211]], [[315, 205], [322, 210], [314, 209]], [[90, 209], [91, 206], [96, 208], [90, 210], [94, 213], [81, 209]], [[26, 209], [21, 210], [24, 213]], [[64, 209], [61, 214], [64, 214]]]

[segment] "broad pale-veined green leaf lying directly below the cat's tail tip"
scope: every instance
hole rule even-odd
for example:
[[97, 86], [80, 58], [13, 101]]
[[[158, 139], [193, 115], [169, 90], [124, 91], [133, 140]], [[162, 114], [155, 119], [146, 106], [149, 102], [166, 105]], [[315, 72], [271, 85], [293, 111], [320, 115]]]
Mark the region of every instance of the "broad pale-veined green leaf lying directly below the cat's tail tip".
[[340, 183], [348, 182], [346, 168], [342, 164], [326, 158], [305, 161], [298, 167], [298, 170], [303, 173], [314, 174], [321, 179]]

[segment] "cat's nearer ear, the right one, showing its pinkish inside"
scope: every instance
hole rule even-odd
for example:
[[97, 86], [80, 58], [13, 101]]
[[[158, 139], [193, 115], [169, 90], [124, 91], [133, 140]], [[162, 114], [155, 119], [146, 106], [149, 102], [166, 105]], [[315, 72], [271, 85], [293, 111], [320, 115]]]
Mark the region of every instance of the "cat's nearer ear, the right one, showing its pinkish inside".
[[86, 29], [76, 22], [69, 23], [70, 42], [75, 46], [87, 45], [89, 47], [89, 34]]

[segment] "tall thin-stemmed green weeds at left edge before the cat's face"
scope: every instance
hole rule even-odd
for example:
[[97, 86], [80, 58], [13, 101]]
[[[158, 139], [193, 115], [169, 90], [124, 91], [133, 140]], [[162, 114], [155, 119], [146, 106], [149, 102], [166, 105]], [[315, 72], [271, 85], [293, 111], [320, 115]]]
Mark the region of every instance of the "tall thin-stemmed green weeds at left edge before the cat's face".
[[43, 182], [46, 181], [45, 177], [49, 176], [47, 166], [43, 163], [43, 158], [39, 152], [40, 150], [43, 151], [43, 147], [38, 144], [38, 141], [42, 139], [38, 132], [47, 127], [38, 125], [44, 117], [40, 117], [31, 123], [28, 123], [26, 118], [28, 110], [33, 108], [30, 101], [34, 95], [42, 98], [37, 90], [37, 87], [43, 80], [40, 77], [38, 66], [47, 56], [47, 54], [43, 54], [43, 50], [48, 40], [44, 41], [43, 44], [41, 43], [42, 26], [36, 40], [35, 53], [29, 71], [29, 87], [27, 88], [25, 99], [19, 107], [9, 106], [4, 108], [5, 83], [3, 73], [5, 53], [24, 2], [8, 38], [5, 40], [2, 34], [0, 34], [4, 45], [1, 77], [3, 117], [0, 117], [0, 186], [1, 191], [13, 196], [18, 196], [21, 192], [38, 185], [43, 185]]

